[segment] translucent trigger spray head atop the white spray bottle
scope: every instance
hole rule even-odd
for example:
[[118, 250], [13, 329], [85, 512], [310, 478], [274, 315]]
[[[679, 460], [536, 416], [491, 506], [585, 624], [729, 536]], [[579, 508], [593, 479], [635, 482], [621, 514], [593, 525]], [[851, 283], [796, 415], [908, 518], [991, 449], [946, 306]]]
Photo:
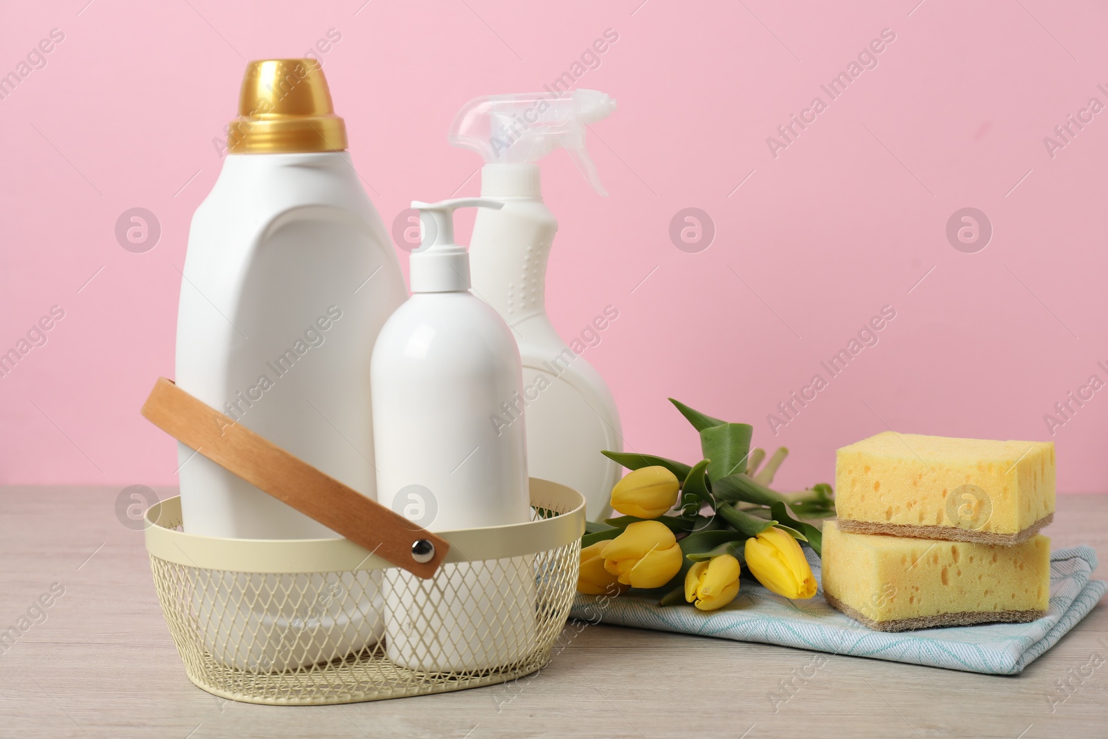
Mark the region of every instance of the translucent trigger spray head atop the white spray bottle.
[[615, 110], [616, 101], [596, 90], [474, 97], [458, 111], [449, 140], [476, 152], [486, 164], [533, 163], [563, 147], [588, 184], [607, 195], [585, 147], [585, 130]]

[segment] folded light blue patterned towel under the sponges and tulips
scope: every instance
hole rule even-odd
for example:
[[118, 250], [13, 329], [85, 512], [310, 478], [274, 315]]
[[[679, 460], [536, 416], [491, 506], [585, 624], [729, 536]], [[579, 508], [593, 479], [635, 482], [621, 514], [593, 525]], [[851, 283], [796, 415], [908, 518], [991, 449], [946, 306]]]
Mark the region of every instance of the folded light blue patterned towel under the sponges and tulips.
[[[804, 552], [819, 578], [819, 557], [807, 547]], [[701, 612], [679, 605], [660, 608], [653, 599], [578, 593], [570, 615], [659, 632], [779, 644], [968, 673], [1018, 675], [1100, 601], [1108, 583], [1090, 579], [1096, 566], [1097, 555], [1091, 547], [1053, 552], [1050, 607], [1045, 617], [1026, 624], [874, 632], [829, 606], [822, 587], [813, 598], [789, 601], [746, 579], [735, 601], [719, 610]]]

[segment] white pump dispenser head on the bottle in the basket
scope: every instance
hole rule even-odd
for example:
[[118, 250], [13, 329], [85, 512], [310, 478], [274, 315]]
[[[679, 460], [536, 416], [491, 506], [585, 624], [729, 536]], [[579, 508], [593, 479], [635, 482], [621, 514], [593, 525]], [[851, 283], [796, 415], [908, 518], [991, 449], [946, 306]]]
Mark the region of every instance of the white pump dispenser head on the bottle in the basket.
[[412, 253], [412, 292], [461, 292], [470, 289], [470, 255], [454, 244], [454, 211], [482, 207], [500, 209], [504, 204], [484, 197], [456, 197], [438, 203], [412, 201], [419, 209], [422, 238]]

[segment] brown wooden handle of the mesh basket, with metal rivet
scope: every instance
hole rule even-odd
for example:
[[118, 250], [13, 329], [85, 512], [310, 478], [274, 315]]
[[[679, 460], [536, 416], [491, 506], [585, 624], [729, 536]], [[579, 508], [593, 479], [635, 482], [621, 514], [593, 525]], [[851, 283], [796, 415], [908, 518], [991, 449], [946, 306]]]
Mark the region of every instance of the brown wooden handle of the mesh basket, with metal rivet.
[[158, 378], [142, 414], [228, 472], [413, 575], [433, 577], [450, 550], [444, 538], [324, 474], [173, 380]]

